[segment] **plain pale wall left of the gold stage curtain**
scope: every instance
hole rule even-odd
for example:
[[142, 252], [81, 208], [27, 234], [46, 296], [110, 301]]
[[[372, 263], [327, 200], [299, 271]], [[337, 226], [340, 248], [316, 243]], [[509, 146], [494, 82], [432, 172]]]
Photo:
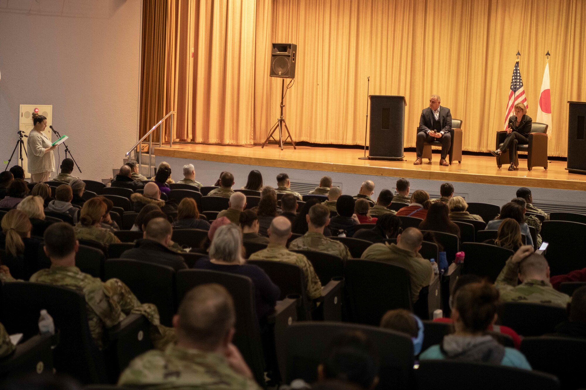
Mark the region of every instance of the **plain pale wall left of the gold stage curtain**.
[[0, 162], [19, 104], [52, 104], [73, 175], [111, 177], [137, 141], [140, 26], [141, 0], [0, 0]]

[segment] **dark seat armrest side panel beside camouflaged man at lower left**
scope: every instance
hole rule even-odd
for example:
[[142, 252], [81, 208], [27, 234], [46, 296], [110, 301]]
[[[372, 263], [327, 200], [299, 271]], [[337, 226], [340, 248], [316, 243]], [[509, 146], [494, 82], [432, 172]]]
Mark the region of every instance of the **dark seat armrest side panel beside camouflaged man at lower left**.
[[107, 330], [108, 345], [104, 357], [110, 378], [117, 378], [132, 359], [153, 348], [150, 329], [147, 317], [132, 313]]

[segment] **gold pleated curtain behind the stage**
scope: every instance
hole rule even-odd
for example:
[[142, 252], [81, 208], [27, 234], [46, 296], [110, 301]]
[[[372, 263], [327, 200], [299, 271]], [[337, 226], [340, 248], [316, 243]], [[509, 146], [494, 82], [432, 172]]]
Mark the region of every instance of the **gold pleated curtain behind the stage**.
[[[415, 128], [429, 96], [439, 94], [452, 117], [464, 121], [464, 149], [486, 152], [495, 147], [495, 132], [505, 121], [517, 50], [532, 118], [537, 117], [545, 53], [551, 53], [550, 156], [567, 152], [567, 101], [586, 100], [583, 0], [166, 4], [164, 27], [144, 27], [166, 31], [163, 101], [167, 112], [178, 112], [174, 138], [179, 141], [264, 141], [280, 111], [281, 80], [268, 77], [271, 42], [298, 45], [295, 84], [285, 99], [285, 119], [295, 141], [362, 143], [370, 76], [370, 94], [406, 97], [406, 147], [415, 145]], [[156, 35], [144, 36], [149, 33]], [[158, 60], [143, 53], [145, 62]], [[141, 111], [141, 125], [142, 118], [153, 119], [157, 115], [151, 112], [160, 110], [145, 99], [141, 107], [147, 111]]]

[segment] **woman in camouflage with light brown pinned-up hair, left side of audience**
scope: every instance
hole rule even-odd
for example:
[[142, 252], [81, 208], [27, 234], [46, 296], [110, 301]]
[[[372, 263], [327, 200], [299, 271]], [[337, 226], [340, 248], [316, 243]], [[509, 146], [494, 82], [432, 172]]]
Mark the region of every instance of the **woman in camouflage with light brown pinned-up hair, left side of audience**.
[[106, 204], [98, 197], [86, 201], [81, 208], [79, 222], [73, 228], [77, 238], [97, 241], [104, 245], [120, 242], [110, 230], [101, 227], [106, 211]]

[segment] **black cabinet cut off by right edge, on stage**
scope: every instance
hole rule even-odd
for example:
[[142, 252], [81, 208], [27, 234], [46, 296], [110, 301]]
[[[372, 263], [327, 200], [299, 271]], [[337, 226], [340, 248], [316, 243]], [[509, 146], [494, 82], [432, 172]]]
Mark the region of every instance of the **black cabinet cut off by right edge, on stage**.
[[568, 172], [586, 175], [586, 102], [568, 101]]

